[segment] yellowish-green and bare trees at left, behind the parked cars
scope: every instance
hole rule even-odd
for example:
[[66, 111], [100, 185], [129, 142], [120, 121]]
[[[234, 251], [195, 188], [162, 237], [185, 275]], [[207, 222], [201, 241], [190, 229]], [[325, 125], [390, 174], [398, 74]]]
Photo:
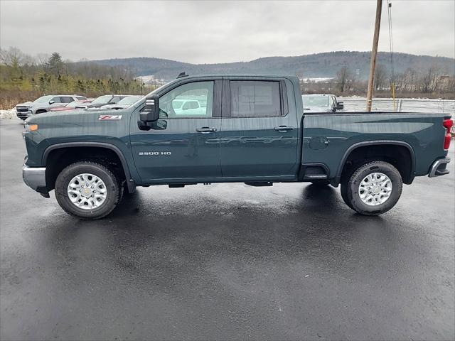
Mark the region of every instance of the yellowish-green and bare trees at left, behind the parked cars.
[[131, 70], [73, 63], [60, 53], [27, 55], [18, 48], [0, 50], [0, 109], [34, 100], [43, 94], [146, 94], [151, 89], [134, 79]]

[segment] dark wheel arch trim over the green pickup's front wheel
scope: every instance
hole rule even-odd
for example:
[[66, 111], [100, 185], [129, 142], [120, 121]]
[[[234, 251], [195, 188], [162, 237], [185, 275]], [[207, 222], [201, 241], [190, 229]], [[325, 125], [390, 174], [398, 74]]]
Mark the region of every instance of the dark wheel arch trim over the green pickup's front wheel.
[[105, 149], [109, 149], [110, 151], [113, 151], [119, 158], [119, 161], [122, 165], [122, 169], [123, 169], [124, 175], [125, 175], [125, 180], [127, 180], [128, 191], [129, 191], [129, 193], [134, 193], [134, 191], [136, 190], [136, 184], [134, 183], [134, 180], [132, 180], [131, 173], [129, 171], [129, 166], [127, 163], [127, 159], [124, 157], [120, 148], [117, 146], [114, 146], [113, 144], [107, 144], [105, 142], [63, 142], [60, 144], [53, 144], [52, 146], [48, 146], [48, 148], [45, 149], [45, 151], [43, 153], [43, 157], [42, 157], [42, 164], [47, 165], [48, 156], [53, 151], [56, 151], [58, 149], [77, 148], [77, 147], [105, 148]]

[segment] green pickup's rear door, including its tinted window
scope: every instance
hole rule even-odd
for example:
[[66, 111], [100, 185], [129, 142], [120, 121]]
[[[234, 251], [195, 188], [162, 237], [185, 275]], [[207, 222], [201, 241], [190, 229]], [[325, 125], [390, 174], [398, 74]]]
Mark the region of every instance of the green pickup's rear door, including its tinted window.
[[[296, 177], [299, 124], [291, 90], [291, 82], [279, 78], [223, 78], [223, 177]], [[293, 105], [288, 105], [288, 98]]]

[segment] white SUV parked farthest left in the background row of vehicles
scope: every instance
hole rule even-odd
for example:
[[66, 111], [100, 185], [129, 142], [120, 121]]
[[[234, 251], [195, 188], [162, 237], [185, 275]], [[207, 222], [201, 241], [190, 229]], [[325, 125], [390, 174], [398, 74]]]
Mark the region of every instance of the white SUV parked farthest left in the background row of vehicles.
[[48, 112], [53, 107], [61, 107], [62, 104], [71, 103], [74, 101], [83, 101], [87, 99], [84, 96], [76, 94], [50, 94], [42, 96], [33, 102], [26, 102], [16, 105], [16, 115], [19, 119], [26, 119], [34, 114]]

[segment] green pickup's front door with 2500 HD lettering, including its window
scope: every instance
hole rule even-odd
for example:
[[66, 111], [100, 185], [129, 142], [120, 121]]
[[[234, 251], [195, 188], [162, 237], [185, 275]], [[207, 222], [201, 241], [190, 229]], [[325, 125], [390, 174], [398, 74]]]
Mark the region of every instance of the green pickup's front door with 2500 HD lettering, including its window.
[[132, 153], [144, 183], [202, 182], [221, 176], [220, 86], [220, 81], [188, 82], [161, 94], [160, 119], [149, 131], [137, 126], [141, 108], [134, 112]]

